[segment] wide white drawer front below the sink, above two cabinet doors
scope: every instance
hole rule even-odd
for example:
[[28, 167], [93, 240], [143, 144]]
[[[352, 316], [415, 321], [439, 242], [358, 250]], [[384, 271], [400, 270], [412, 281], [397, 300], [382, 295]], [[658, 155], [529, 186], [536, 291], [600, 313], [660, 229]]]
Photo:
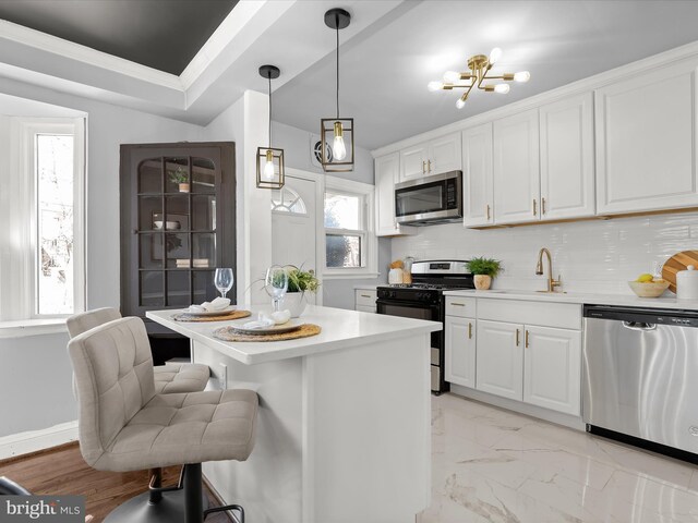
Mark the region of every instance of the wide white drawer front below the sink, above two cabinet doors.
[[519, 300], [478, 300], [478, 319], [581, 330], [581, 305]]

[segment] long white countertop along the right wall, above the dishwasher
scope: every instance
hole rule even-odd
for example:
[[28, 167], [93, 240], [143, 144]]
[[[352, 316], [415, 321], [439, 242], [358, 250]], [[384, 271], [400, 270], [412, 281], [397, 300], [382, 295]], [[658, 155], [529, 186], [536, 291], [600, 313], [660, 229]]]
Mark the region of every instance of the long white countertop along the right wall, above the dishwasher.
[[698, 300], [676, 300], [673, 295], [667, 297], [637, 297], [634, 294], [544, 293], [498, 289], [490, 291], [445, 291], [444, 294], [447, 296], [486, 297], [492, 300], [527, 300], [537, 302], [698, 311]]

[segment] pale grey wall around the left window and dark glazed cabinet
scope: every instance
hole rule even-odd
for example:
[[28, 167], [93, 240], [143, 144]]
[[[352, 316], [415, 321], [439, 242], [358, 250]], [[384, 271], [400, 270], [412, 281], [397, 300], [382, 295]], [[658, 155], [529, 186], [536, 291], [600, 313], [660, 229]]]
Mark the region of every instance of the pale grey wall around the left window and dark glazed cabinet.
[[[17, 115], [87, 114], [87, 307], [119, 306], [119, 145], [195, 142], [202, 129], [5, 78], [2, 94], [24, 98]], [[67, 342], [67, 333], [0, 339], [0, 437], [77, 417]]]

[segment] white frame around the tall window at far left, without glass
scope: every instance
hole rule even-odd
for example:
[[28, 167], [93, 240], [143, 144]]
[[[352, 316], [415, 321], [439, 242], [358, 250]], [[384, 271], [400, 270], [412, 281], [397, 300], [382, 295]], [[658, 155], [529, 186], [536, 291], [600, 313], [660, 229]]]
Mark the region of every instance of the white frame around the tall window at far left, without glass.
[[[0, 327], [47, 325], [70, 314], [38, 314], [36, 136], [73, 135], [73, 313], [85, 309], [85, 119], [7, 117], [10, 159], [8, 226], [0, 235]], [[7, 292], [5, 292], [7, 290]]]

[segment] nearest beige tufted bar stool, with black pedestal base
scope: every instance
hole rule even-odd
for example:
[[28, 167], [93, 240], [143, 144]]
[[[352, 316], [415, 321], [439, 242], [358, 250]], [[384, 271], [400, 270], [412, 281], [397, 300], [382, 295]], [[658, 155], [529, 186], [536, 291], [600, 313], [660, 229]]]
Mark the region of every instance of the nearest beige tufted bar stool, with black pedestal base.
[[[201, 523], [204, 461], [244, 461], [254, 447], [257, 394], [225, 390], [157, 394], [153, 358], [140, 318], [115, 319], [68, 344], [80, 403], [80, 450], [99, 471], [127, 472], [183, 464], [179, 487], [163, 489], [159, 502], [148, 494], [112, 511], [106, 523]], [[183, 491], [172, 496], [168, 490]], [[183, 504], [182, 499], [183, 498]]]

